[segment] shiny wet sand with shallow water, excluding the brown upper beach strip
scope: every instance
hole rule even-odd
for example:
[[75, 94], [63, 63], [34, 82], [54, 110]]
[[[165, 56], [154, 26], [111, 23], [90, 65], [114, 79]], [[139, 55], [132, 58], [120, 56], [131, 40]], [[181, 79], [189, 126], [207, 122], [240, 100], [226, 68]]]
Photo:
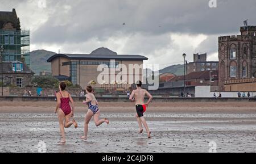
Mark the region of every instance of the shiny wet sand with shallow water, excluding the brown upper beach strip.
[[89, 124], [83, 134], [84, 113], [75, 115], [79, 128], [65, 129], [67, 143], [58, 144], [59, 124], [54, 113], [1, 113], [0, 152], [208, 152], [209, 142], [217, 152], [256, 152], [255, 113], [146, 113], [152, 132], [138, 134], [134, 113], [101, 113], [110, 124]]

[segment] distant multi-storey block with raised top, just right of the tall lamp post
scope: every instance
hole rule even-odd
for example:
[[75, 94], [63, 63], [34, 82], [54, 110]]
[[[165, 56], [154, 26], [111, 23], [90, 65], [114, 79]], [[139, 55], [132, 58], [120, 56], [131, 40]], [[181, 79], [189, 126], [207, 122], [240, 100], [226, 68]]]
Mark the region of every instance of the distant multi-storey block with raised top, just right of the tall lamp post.
[[218, 69], [218, 61], [207, 61], [207, 53], [193, 54], [193, 62], [187, 64], [187, 74]]

